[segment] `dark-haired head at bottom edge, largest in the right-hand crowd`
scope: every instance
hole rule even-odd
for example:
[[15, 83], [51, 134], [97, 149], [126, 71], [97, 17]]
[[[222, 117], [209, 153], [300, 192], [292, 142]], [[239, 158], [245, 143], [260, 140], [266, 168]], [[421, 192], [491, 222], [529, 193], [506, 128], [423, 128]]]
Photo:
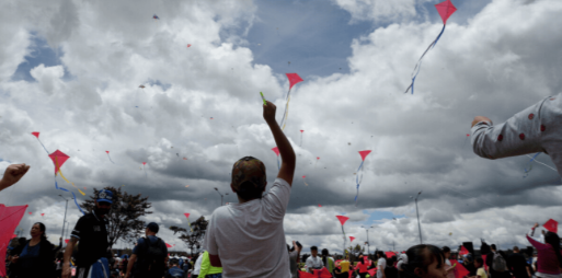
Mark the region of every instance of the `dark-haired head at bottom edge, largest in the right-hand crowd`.
[[406, 251], [408, 263], [402, 264], [409, 278], [445, 278], [445, 256], [437, 246], [420, 244]]

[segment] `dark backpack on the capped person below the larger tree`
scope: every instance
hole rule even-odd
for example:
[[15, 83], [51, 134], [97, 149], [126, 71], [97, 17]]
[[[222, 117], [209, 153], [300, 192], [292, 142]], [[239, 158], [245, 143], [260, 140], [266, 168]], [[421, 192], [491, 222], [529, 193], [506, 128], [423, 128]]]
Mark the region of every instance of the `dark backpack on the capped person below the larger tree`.
[[158, 277], [163, 276], [167, 254], [162, 250], [162, 240], [158, 238], [158, 240], [152, 243], [148, 238], [142, 239], [145, 239], [145, 246], [142, 246], [142, 252], [138, 254], [139, 259], [135, 263], [135, 273], [158, 275]]

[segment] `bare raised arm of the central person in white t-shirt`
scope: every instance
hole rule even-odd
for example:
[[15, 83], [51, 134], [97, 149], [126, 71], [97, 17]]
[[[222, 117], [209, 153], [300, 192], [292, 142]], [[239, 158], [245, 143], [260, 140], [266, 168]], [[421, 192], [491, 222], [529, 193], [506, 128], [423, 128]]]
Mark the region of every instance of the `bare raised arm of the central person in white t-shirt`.
[[279, 153], [282, 157], [282, 165], [277, 177], [283, 178], [285, 182], [289, 183], [289, 185], [293, 185], [297, 157], [295, 155], [295, 151], [293, 150], [289, 140], [275, 120], [275, 111], [277, 107], [271, 102], [266, 103], [267, 105], [263, 106], [263, 118], [272, 130], [273, 138], [275, 139], [277, 148], [279, 148]]

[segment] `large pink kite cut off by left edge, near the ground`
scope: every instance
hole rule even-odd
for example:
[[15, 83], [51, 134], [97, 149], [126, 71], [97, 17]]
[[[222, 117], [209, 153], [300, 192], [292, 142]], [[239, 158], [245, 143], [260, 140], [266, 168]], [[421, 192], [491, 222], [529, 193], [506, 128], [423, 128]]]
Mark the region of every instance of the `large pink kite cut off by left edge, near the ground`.
[[[5, 252], [10, 240], [13, 239], [13, 232], [23, 218], [27, 209], [25, 206], [5, 207], [0, 204], [0, 262], [5, 262]], [[5, 277], [5, 265], [0, 264], [0, 276]]]

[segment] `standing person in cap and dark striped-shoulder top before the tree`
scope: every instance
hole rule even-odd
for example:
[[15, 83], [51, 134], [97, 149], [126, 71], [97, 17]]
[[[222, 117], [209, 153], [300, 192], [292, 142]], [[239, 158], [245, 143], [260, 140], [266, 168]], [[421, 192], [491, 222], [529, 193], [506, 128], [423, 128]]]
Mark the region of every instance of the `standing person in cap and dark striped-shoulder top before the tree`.
[[98, 192], [95, 207], [90, 213], [85, 213], [76, 223], [70, 241], [65, 251], [65, 264], [62, 265], [62, 278], [70, 278], [70, 257], [77, 243], [77, 278], [87, 278], [92, 264], [102, 257], [111, 258], [108, 253], [107, 230], [105, 215], [110, 212], [113, 204], [113, 192], [102, 189]]

